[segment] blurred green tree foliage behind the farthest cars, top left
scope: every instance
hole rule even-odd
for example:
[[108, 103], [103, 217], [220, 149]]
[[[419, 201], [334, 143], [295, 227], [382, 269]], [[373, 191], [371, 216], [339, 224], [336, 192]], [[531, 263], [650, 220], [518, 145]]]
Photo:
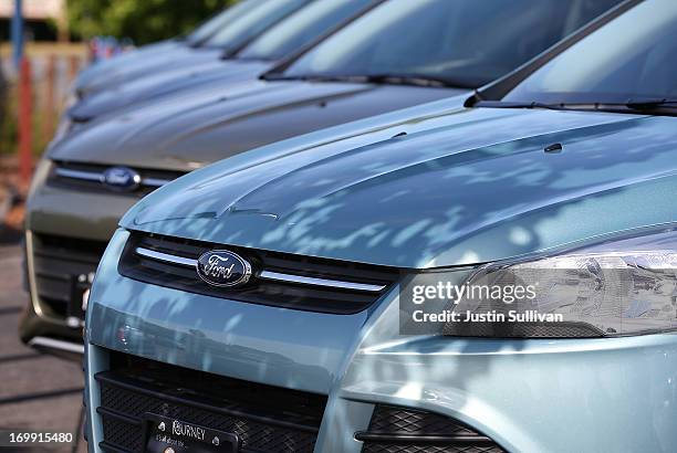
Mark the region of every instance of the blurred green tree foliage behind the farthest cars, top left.
[[67, 0], [71, 30], [131, 38], [137, 45], [189, 32], [237, 0]]

